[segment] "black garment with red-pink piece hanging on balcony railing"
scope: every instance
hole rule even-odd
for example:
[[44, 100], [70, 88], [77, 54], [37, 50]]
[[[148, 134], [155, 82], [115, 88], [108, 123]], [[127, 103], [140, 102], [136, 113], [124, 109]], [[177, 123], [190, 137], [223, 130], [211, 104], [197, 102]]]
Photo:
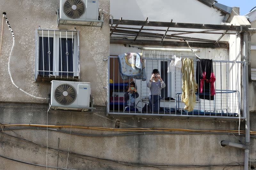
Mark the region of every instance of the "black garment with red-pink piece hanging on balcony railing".
[[213, 73], [212, 60], [198, 59], [196, 65], [196, 83], [199, 86], [199, 98], [214, 100], [214, 82], [216, 80]]

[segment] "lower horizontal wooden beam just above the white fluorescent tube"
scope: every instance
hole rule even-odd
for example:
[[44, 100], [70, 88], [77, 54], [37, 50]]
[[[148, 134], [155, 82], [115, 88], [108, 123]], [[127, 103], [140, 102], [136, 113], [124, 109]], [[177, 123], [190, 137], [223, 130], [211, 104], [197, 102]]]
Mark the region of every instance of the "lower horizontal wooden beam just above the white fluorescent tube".
[[[136, 40], [133, 39], [118, 39], [110, 38], [110, 44], [129, 44], [129, 45], [155, 45], [155, 46], [174, 46], [174, 47], [188, 47], [184, 41], [156, 41], [156, 40]], [[228, 42], [205, 43], [205, 42], [189, 42], [190, 47], [202, 48], [229, 48]]]

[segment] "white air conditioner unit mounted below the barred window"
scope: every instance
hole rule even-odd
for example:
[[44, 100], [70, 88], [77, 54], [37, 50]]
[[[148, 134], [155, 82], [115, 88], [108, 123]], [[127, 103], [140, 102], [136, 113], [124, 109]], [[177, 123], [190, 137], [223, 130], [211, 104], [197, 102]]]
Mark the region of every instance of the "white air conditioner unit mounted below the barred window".
[[[91, 83], [52, 80], [49, 109], [88, 111]], [[91, 100], [91, 103], [93, 101]]]

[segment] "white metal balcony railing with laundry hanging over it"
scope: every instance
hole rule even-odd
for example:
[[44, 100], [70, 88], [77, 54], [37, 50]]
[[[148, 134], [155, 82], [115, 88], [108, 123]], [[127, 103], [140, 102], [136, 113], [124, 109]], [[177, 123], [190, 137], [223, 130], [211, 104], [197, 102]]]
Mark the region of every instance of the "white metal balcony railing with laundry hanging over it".
[[[175, 69], [174, 72], [167, 73], [167, 68], [171, 57], [166, 56], [143, 57], [147, 74], [146, 81], [141, 79], [122, 79], [119, 71], [119, 63], [117, 56], [109, 56], [108, 58], [108, 114], [109, 115], [137, 115], [137, 116], [161, 116], [161, 117], [197, 117], [210, 119], [244, 119], [241, 110], [241, 96], [244, 82], [241, 81], [241, 66], [244, 62], [240, 61], [217, 61], [213, 60], [213, 72], [216, 77], [214, 83], [215, 95], [213, 100], [207, 100], [210, 93], [204, 93], [203, 97], [198, 91], [196, 92], [196, 105], [193, 111], [188, 112], [184, 109], [184, 103], [181, 102], [181, 71]], [[196, 79], [197, 59], [194, 59], [194, 70]], [[160, 109], [152, 112], [147, 107], [149, 104], [149, 88], [147, 82], [151, 78], [153, 69], [158, 69], [164, 80], [166, 87], [162, 89]], [[199, 76], [198, 76], [199, 77]], [[113, 80], [113, 83], [111, 80]], [[111, 82], [110, 82], [111, 81]], [[124, 101], [124, 92], [127, 85], [134, 81], [139, 93], [136, 99], [134, 111], [124, 111], [126, 102]], [[199, 81], [198, 81], [199, 82]], [[164, 90], [165, 89], [165, 90]], [[210, 90], [210, 89], [209, 89]], [[146, 107], [144, 107], [146, 105]], [[152, 110], [152, 109], [151, 109]], [[241, 114], [241, 115], [240, 115]]]

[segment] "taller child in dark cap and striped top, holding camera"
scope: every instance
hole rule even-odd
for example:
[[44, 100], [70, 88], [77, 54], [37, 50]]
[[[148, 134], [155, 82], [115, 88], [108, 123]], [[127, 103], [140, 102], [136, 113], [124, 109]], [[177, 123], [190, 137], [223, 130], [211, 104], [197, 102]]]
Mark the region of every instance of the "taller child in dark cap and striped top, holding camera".
[[165, 84], [157, 69], [152, 71], [152, 76], [148, 81], [147, 86], [149, 87], [150, 110], [152, 111], [153, 108], [153, 112], [158, 112], [160, 109], [161, 89], [165, 87]]

